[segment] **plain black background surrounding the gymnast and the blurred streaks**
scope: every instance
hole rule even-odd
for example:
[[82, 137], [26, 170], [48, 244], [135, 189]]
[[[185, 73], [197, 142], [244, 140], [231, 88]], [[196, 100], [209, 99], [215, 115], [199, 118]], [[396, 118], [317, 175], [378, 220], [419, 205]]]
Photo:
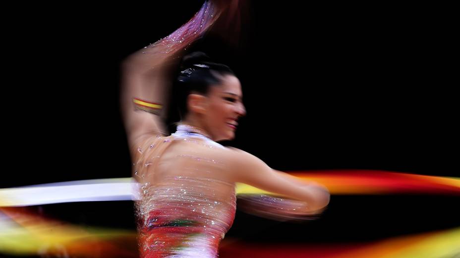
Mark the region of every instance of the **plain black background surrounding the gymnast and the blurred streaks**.
[[[459, 176], [458, 84], [442, 7], [248, 3], [236, 44], [210, 34], [197, 46], [229, 64], [243, 86], [247, 116], [224, 145], [282, 171]], [[0, 187], [129, 177], [120, 62], [173, 32], [201, 4], [19, 8], [3, 31]], [[365, 241], [458, 226], [458, 203], [458, 195], [333, 196], [320, 221], [302, 225], [311, 234], [238, 212], [228, 235]], [[134, 229], [129, 202], [42, 208], [74, 223]]]

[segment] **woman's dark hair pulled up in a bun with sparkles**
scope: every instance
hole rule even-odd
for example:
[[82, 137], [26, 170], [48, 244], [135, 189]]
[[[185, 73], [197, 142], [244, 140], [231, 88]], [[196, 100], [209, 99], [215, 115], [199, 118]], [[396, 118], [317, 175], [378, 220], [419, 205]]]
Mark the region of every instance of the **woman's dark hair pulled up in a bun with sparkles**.
[[183, 119], [188, 113], [187, 97], [190, 93], [208, 94], [210, 86], [221, 84], [221, 77], [225, 75], [234, 73], [228, 66], [211, 61], [203, 52], [184, 56], [173, 86], [180, 118]]

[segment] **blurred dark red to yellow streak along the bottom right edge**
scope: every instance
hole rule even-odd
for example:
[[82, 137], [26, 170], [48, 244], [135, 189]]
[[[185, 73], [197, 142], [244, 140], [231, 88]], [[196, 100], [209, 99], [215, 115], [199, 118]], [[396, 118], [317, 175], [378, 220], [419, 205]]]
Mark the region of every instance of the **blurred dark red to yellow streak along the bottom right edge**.
[[457, 258], [460, 254], [460, 227], [372, 243], [254, 245], [221, 243], [220, 258]]

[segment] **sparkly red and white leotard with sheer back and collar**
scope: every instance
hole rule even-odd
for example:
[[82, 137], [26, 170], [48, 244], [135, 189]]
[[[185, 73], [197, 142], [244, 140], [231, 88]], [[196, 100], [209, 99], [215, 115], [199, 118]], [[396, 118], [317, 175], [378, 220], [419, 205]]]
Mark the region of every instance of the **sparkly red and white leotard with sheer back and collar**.
[[170, 136], [151, 136], [135, 145], [142, 258], [218, 256], [236, 209], [234, 183], [220, 175], [226, 164], [212, 156], [222, 148], [185, 125]]

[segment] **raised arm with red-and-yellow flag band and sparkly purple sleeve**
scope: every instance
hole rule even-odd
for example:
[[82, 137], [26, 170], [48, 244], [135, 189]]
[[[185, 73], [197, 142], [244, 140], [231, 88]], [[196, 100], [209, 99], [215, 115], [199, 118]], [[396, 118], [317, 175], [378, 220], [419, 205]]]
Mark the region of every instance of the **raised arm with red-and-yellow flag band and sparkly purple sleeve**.
[[143, 135], [167, 133], [162, 117], [170, 93], [169, 69], [180, 53], [200, 38], [228, 7], [224, 2], [206, 1], [186, 24], [123, 62], [121, 112], [130, 145]]

